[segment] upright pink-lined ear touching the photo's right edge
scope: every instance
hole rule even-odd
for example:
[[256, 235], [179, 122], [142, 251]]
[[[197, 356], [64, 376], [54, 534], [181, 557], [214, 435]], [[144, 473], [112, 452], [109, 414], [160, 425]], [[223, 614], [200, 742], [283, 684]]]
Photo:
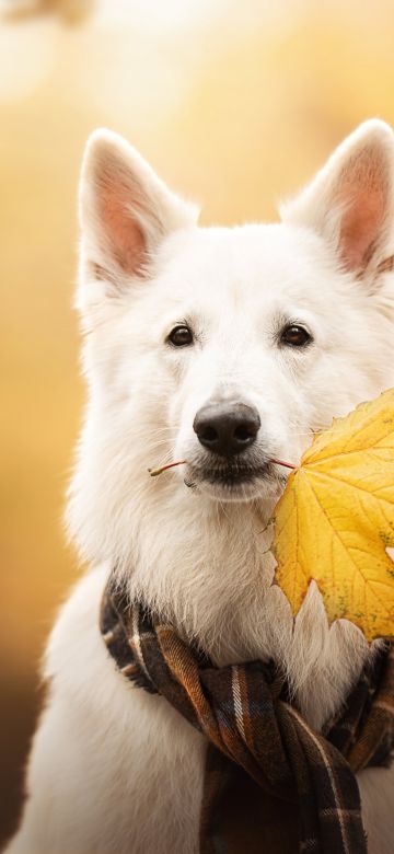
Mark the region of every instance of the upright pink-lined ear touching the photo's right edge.
[[393, 220], [394, 134], [370, 119], [334, 151], [314, 181], [281, 209], [333, 245], [348, 273], [364, 277], [389, 252]]

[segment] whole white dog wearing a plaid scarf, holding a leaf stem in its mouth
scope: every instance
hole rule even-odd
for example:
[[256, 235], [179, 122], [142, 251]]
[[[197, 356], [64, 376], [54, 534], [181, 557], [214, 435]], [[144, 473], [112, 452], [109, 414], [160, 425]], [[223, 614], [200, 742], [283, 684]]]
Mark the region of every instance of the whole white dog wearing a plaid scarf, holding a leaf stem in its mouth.
[[[81, 182], [89, 384], [68, 523], [92, 566], [45, 658], [21, 829], [8, 854], [196, 854], [206, 742], [114, 667], [109, 570], [218, 665], [273, 657], [317, 730], [370, 650], [311, 585], [293, 630], [267, 529], [313, 430], [394, 385], [394, 134], [361, 125], [278, 224], [198, 228], [107, 130]], [[379, 269], [381, 265], [381, 268]], [[186, 460], [151, 478], [148, 468]], [[274, 472], [274, 473], [273, 473]], [[394, 770], [358, 777], [369, 852], [393, 851]], [[283, 852], [283, 854], [286, 854]]]

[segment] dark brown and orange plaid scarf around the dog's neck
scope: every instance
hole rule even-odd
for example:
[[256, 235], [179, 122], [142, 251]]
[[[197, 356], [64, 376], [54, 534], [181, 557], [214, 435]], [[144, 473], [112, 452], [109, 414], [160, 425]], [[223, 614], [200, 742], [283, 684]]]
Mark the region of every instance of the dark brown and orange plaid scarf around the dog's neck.
[[274, 663], [213, 667], [174, 628], [107, 588], [101, 631], [120, 672], [208, 739], [200, 854], [367, 854], [355, 774], [390, 764], [392, 645], [316, 734]]

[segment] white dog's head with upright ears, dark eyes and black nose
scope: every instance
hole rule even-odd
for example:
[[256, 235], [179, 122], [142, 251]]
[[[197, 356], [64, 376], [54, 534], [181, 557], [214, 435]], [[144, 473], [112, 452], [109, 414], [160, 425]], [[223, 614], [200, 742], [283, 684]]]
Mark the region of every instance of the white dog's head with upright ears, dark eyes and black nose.
[[371, 120], [280, 223], [199, 228], [123, 139], [93, 134], [78, 298], [90, 403], [70, 503], [85, 544], [127, 531], [147, 496], [273, 504], [286, 472], [273, 459], [297, 463], [314, 430], [394, 384], [393, 163], [392, 130]]

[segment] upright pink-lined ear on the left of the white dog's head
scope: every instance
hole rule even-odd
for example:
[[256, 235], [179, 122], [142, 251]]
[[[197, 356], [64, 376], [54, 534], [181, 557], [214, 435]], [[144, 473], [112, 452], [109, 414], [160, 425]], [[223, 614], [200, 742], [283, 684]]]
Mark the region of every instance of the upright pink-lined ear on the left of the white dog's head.
[[163, 238], [196, 218], [125, 139], [104, 129], [92, 134], [80, 183], [83, 281], [105, 282], [114, 295], [148, 277]]

